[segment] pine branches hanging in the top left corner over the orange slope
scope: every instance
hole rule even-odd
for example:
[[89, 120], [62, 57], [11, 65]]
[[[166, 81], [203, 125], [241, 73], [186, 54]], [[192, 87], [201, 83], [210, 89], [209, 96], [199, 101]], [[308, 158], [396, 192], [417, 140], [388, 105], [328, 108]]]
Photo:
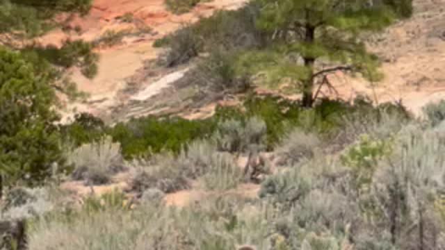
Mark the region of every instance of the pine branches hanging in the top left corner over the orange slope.
[[[83, 75], [92, 78], [97, 73], [98, 56], [93, 46], [82, 40], [66, 40], [63, 46], [42, 47], [33, 38], [43, 35], [52, 28], [69, 22], [72, 15], [83, 15], [90, 9], [92, 0], [0, 0], [0, 44], [24, 52], [39, 67], [53, 68], [56, 90], [65, 94], [76, 94], [74, 84], [63, 79], [63, 69], [77, 66]], [[71, 14], [65, 21], [56, 16], [60, 13]], [[66, 15], [65, 15], [66, 16]], [[55, 70], [58, 69], [58, 70]], [[71, 92], [72, 93], [71, 93]]]

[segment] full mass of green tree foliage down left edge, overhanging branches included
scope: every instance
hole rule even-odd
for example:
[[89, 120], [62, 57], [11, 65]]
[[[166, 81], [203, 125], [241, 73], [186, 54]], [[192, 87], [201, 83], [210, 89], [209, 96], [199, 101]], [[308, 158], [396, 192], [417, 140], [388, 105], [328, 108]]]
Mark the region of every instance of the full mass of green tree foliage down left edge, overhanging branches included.
[[[72, 84], [60, 84], [66, 82], [63, 67], [94, 65], [97, 56], [82, 41], [67, 41], [62, 48], [26, 42], [53, 28], [60, 12], [83, 14], [90, 3], [0, 0], [0, 188], [40, 183], [51, 165], [63, 162], [54, 90], [76, 93]], [[82, 69], [90, 74], [95, 67]]]

